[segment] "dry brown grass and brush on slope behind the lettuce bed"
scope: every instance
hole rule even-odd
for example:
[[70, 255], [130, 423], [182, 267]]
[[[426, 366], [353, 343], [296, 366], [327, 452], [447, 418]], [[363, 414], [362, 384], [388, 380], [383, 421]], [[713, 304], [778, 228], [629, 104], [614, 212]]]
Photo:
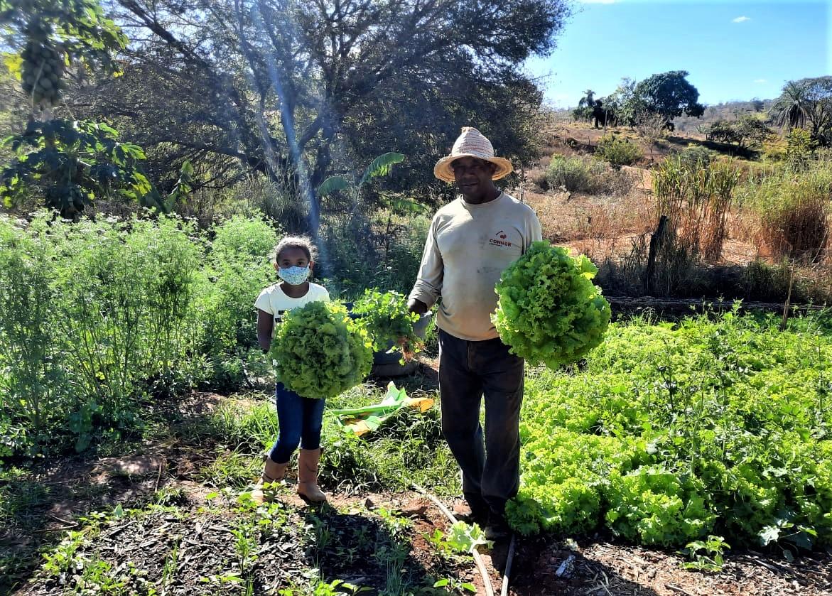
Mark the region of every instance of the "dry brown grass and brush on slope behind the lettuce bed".
[[[553, 122], [546, 133], [542, 157], [524, 171], [518, 194], [537, 211], [544, 237], [587, 254], [599, 265], [598, 281], [608, 294], [635, 296], [644, 293], [650, 241], [663, 211], [654, 193], [654, 174], [668, 156], [688, 147], [702, 147], [703, 139], [701, 135], [666, 137], [654, 144], [655, 161], [651, 164], [649, 141], [631, 130], [622, 129], [619, 134], [640, 143], [646, 156], [635, 166], [622, 166], [618, 171], [631, 180], [625, 192], [552, 187], [551, 174], [547, 176], [552, 160], [580, 158], [592, 163], [590, 157], [604, 135], [603, 129], [588, 125]], [[704, 147], [700, 151], [708, 155]], [[710, 156], [717, 161], [726, 159], [712, 151]], [[761, 168], [765, 168], [758, 162], [733, 160], [731, 166], [737, 180], [730, 200], [726, 196], [717, 200], [711, 193], [711, 200], [702, 202], [694, 214], [688, 199], [677, 197], [681, 201], [677, 206], [693, 214], [674, 236], [676, 248], [681, 246], [686, 251], [667, 257], [666, 276], [659, 287], [651, 288], [651, 293], [783, 301], [793, 282], [793, 300], [829, 301], [830, 196], [821, 190], [810, 199], [805, 191], [806, 187], [816, 190], [828, 186], [808, 174], [796, 174], [789, 182], [791, 190], [786, 190], [785, 179], [760, 176]], [[758, 179], [763, 180], [762, 186], [755, 186]], [[776, 187], [780, 196], [795, 196], [793, 202], [800, 209], [775, 208], [782, 201], [772, 197], [765, 204], [760, 187], [768, 188], [769, 195]], [[685, 238], [692, 238], [692, 254]]]

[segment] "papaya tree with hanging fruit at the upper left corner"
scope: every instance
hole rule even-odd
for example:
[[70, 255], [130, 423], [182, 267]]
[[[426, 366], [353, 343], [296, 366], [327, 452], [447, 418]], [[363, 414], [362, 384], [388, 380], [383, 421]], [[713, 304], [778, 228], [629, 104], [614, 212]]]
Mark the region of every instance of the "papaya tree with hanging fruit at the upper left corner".
[[144, 199], [151, 185], [140, 147], [119, 142], [106, 124], [52, 117], [68, 78], [118, 70], [112, 53], [127, 40], [97, 0], [0, 0], [0, 28], [17, 52], [7, 63], [31, 108], [25, 130], [3, 142], [14, 156], [0, 176], [4, 203], [35, 190], [62, 216], [76, 217], [96, 196]]

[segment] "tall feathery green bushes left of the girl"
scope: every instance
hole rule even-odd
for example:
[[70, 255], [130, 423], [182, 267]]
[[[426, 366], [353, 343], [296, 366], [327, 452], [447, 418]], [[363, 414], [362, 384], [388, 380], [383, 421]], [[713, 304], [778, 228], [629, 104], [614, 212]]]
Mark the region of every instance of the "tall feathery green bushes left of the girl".
[[275, 231], [238, 217], [214, 233], [173, 217], [0, 218], [0, 457], [118, 440], [148, 397], [264, 370], [253, 305]]

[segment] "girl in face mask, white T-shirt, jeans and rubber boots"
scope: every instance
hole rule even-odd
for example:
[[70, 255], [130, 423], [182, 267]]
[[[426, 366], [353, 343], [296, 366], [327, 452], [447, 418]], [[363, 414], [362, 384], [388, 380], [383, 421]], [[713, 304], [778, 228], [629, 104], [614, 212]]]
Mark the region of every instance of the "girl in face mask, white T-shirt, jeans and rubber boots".
[[[329, 292], [324, 286], [308, 281], [315, 256], [314, 245], [305, 237], [286, 236], [275, 246], [274, 266], [281, 281], [261, 291], [255, 301], [257, 341], [264, 352], [269, 351], [271, 338], [275, 335], [275, 325], [280, 325], [287, 310], [315, 300], [329, 300]], [[275, 403], [279, 434], [265, 459], [263, 474], [251, 493], [255, 503], [262, 504], [265, 501], [263, 484], [283, 479], [291, 454], [299, 443], [298, 494], [313, 503], [326, 500], [326, 495], [318, 488], [324, 401], [301, 397], [286, 389], [282, 383], [277, 383]]]

